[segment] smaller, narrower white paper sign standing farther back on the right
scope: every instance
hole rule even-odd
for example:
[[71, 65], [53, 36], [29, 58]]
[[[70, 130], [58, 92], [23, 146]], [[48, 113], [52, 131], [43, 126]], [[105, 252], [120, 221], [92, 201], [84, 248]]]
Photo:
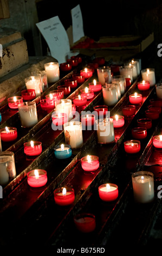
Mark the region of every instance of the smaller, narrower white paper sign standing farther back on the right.
[[80, 5], [76, 5], [71, 10], [72, 15], [72, 26], [73, 26], [73, 43], [80, 40], [83, 36], [85, 36], [85, 33], [83, 31], [83, 19], [82, 19], [82, 13], [80, 9]]

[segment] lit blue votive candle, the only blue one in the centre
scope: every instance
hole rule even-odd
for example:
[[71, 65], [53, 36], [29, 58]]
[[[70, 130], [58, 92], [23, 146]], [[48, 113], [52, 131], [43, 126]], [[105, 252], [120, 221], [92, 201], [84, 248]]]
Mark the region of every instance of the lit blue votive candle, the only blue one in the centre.
[[67, 144], [61, 144], [54, 148], [54, 152], [57, 159], [67, 159], [72, 156], [72, 147]]

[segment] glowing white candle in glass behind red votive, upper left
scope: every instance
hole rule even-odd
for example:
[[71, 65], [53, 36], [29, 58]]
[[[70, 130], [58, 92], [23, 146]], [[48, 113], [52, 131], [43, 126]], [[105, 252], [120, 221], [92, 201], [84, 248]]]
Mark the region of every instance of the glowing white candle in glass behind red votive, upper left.
[[39, 75], [26, 77], [25, 85], [26, 85], [27, 89], [35, 90], [36, 97], [41, 95], [42, 81], [41, 81], [41, 77]]

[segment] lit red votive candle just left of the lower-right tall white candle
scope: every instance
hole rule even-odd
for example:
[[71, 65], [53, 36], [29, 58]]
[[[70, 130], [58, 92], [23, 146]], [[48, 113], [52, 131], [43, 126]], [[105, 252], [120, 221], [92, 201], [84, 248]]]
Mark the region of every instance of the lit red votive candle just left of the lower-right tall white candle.
[[98, 188], [99, 190], [99, 197], [102, 201], [111, 202], [118, 198], [118, 186], [115, 184], [102, 184]]

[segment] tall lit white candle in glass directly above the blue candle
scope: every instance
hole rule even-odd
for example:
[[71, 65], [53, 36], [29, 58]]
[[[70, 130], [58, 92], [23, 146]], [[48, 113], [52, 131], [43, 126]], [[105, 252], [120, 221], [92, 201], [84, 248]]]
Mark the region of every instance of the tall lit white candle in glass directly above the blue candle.
[[82, 123], [70, 121], [63, 125], [66, 144], [73, 148], [80, 148], [83, 145]]

